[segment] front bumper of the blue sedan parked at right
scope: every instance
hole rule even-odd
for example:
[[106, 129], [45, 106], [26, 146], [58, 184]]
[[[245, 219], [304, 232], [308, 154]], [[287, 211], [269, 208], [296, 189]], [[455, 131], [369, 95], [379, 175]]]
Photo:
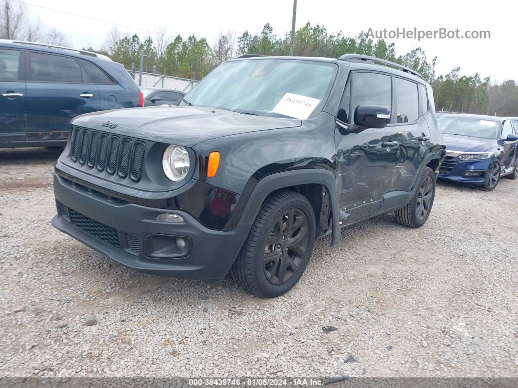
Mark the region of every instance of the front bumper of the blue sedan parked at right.
[[[448, 157], [439, 169], [439, 178], [457, 182], [483, 184], [488, 171], [493, 168], [493, 159], [461, 161], [458, 157]], [[476, 174], [477, 176], [473, 176]]]

